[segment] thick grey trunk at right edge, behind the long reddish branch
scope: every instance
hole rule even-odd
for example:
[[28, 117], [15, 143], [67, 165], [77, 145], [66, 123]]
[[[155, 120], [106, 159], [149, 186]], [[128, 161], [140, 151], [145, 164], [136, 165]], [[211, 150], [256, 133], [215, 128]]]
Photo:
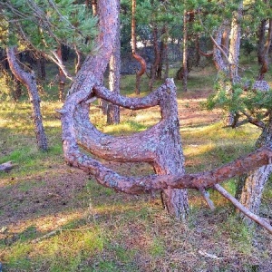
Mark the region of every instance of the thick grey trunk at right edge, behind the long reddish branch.
[[[267, 126], [263, 129], [256, 143], [257, 148], [263, 146], [272, 146], [272, 116], [270, 116]], [[242, 205], [255, 214], [259, 214], [262, 193], [271, 172], [272, 164], [268, 164], [257, 170], [249, 171], [239, 180], [237, 197]], [[244, 214], [240, 215], [248, 225], [252, 223]]]

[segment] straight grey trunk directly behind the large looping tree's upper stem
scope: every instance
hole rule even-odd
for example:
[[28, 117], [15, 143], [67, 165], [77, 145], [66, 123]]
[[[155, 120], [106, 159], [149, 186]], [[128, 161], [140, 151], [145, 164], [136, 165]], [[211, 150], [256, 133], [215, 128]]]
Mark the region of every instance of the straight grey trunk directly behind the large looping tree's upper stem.
[[[120, 5], [118, 6], [118, 30], [120, 30]], [[115, 44], [112, 49], [112, 55], [109, 63], [109, 86], [110, 90], [115, 93], [120, 92], [120, 71], [121, 71], [121, 42], [120, 32], [118, 31], [115, 37]], [[107, 103], [107, 123], [119, 123], [120, 122], [120, 107], [112, 103]]]

